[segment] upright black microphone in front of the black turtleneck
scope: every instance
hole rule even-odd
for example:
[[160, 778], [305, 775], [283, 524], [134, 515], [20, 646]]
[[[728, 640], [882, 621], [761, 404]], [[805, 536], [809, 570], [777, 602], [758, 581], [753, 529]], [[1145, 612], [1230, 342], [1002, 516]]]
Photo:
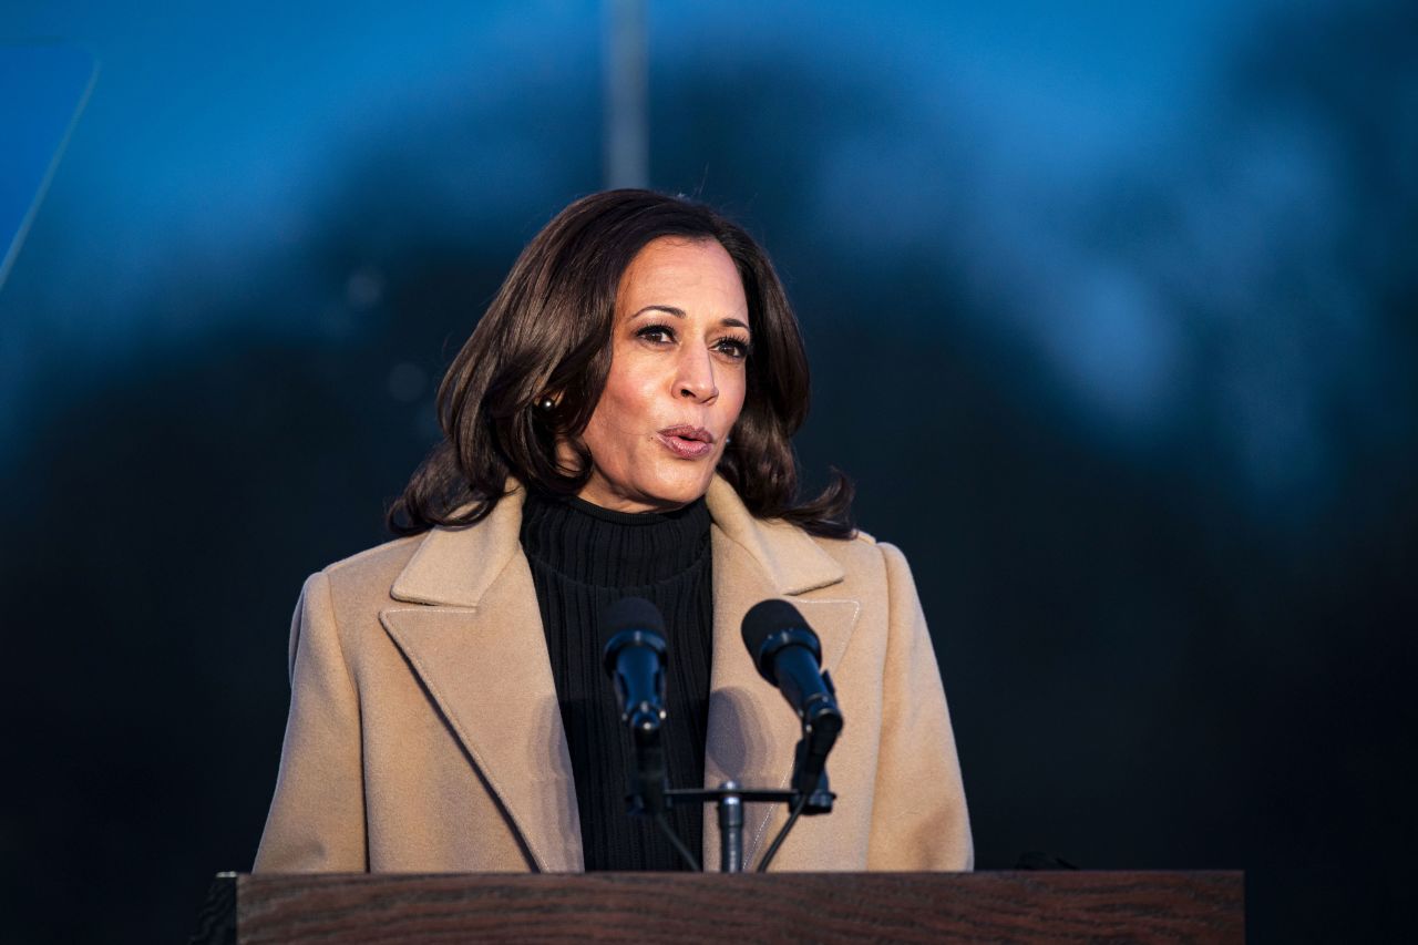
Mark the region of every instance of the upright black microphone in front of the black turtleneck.
[[635, 739], [635, 770], [627, 797], [631, 813], [665, 812], [665, 620], [644, 597], [621, 597], [601, 614], [605, 673], [615, 684], [621, 722]]

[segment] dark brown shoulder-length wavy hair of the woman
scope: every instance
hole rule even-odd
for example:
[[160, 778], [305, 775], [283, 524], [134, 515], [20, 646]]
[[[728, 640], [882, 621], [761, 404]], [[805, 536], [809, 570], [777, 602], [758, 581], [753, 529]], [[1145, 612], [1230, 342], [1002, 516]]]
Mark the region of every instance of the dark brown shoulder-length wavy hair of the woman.
[[[586, 485], [591, 457], [580, 434], [610, 372], [617, 289], [635, 254], [659, 237], [716, 240], [749, 301], [746, 397], [719, 474], [757, 518], [828, 538], [854, 534], [852, 485], [841, 472], [817, 498], [798, 499], [791, 437], [807, 419], [807, 352], [773, 264], [713, 209], [648, 190], [577, 200], [518, 257], [438, 387], [445, 438], [390, 507], [394, 532], [478, 522], [506, 494], [508, 475], [553, 494]], [[576, 455], [570, 467], [557, 461], [562, 440]]]

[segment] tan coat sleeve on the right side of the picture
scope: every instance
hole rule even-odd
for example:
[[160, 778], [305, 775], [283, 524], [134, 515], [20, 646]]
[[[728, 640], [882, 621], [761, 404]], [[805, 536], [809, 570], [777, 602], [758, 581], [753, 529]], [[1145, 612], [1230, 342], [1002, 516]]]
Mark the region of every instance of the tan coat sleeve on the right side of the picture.
[[906, 558], [886, 559], [889, 637], [869, 870], [970, 870], [974, 844], [956, 739]]

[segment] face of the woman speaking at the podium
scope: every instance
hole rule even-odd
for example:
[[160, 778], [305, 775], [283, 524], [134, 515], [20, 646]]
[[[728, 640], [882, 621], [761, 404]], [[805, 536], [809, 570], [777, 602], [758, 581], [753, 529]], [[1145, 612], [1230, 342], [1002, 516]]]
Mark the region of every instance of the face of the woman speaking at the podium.
[[621, 277], [611, 369], [583, 434], [580, 497], [623, 512], [666, 511], [709, 488], [746, 387], [749, 302], [715, 240], [661, 237]]

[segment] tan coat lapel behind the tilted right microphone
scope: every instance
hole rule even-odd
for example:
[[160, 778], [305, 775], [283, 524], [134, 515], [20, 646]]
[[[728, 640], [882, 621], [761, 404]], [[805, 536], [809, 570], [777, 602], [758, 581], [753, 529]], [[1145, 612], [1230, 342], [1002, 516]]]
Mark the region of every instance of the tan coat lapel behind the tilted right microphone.
[[[842, 568], [803, 531], [753, 518], [733, 488], [715, 478], [709, 488], [713, 532], [713, 667], [709, 678], [709, 731], [705, 786], [737, 780], [744, 788], [788, 786], [793, 749], [801, 735], [797, 715], [753, 665], [743, 646], [742, 623], [749, 607], [767, 597], [787, 597], [817, 631], [822, 664], [837, 667], [861, 613], [855, 599], [798, 595], [842, 580]], [[744, 864], [767, 847], [769, 827], [783, 823], [783, 805], [744, 809]], [[705, 807], [703, 864], [719, 864], [719, 831], [713, 807]]]

